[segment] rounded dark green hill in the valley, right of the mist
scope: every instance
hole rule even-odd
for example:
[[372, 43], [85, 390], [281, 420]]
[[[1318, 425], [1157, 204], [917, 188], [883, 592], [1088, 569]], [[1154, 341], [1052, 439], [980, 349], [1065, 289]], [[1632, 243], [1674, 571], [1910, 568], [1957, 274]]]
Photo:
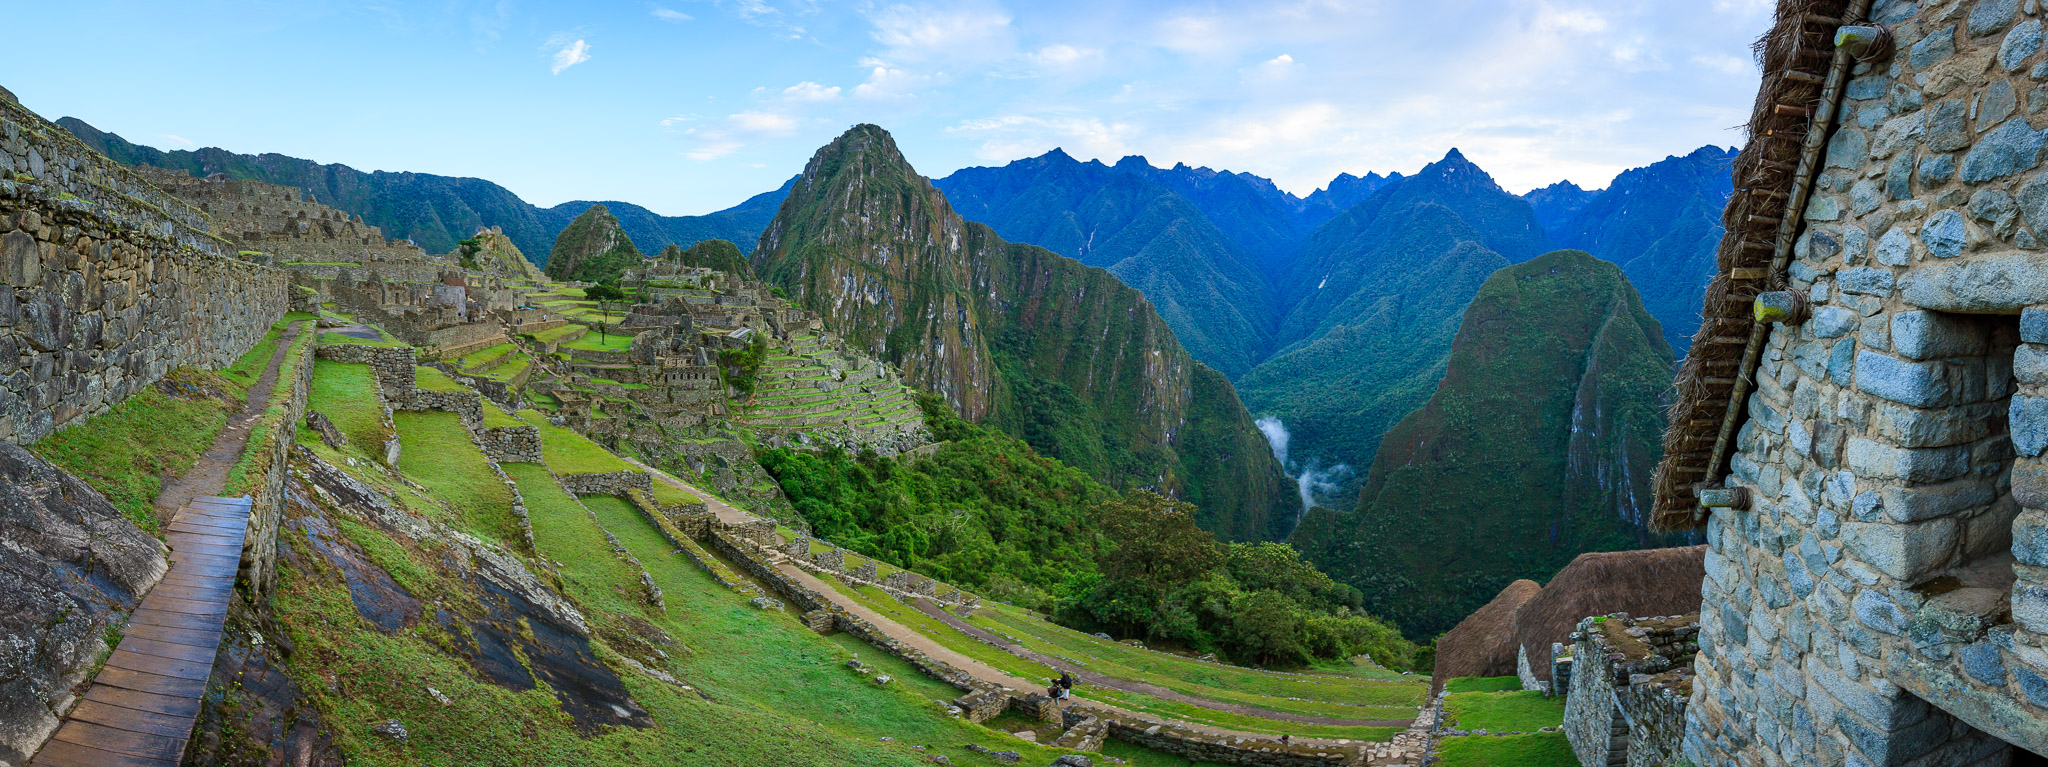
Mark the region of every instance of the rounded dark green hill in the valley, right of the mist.
[[1409, 636], [1579, 552], [1669, 544], [1645, 528], [1669, 380], [1671, 348], [1620, 268], [1573, 250], [1501, 268], [1358, 507], [1313, 509], [1290, 540]]

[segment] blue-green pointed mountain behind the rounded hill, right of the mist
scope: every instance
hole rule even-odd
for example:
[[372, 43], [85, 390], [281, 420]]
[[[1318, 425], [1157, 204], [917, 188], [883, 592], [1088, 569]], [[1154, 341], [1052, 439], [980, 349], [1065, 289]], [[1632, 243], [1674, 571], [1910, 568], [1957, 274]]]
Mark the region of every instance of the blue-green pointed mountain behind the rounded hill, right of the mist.
[[1528, 202], [1452, 149], [1317, 227], [1284, 282], [1284, 346], [1237, 391], [1286, 423], [1303, 462], [1364, 472], [1380, 436], [1444, 374], [1487, 274], [1542, 245]]

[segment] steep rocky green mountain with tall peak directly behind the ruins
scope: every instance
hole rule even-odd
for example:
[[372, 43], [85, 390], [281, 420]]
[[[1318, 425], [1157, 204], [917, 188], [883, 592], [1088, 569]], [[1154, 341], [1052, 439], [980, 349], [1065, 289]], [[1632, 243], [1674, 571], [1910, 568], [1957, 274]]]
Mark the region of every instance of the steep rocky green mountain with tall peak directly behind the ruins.
[[754, 268], [958, 413], [1229, 538], [1290, 528], [1286, 479], [1229, 380], [1106, 270], [969, 223], [858, 125], [819, 149]]

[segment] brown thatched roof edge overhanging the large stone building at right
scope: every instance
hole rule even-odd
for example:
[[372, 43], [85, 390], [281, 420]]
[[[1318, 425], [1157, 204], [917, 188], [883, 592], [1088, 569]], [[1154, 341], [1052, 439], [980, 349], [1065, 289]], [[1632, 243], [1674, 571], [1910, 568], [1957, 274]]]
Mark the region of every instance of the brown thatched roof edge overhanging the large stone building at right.
[[[1755, 45], [1763, 84], [1749, 141], [1735, 157], [1735, 196], [1720, 215], [1726, 229], [1720, 274], [1706, 286], [1700, 331], [1673, 382], [1677, 403], [1657, 466], [1653, 530], [1700, 528], [1694, 487], [1724, 477], [1763, 346], [1765, 327], [1751, 319], [1751, 305], [1759, 292], [1784, 288], [1817, 151], [1845, 80], [1847, 53], [1835, 51], [1833, 35], [1845, 12], [1862, 14], [1868, 6], [1870, 0], [1780, 0], [1776, 22]], [[1819, 135], [1808, 137], [1808, 129]]]

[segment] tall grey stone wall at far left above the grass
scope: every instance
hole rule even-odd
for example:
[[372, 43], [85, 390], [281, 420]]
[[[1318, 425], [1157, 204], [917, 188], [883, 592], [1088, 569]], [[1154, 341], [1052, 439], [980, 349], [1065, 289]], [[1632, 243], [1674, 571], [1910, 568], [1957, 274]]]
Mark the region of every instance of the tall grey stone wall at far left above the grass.
[[0, 96], [0, 440], [233, 364], [291, 305], [207, 217]]

